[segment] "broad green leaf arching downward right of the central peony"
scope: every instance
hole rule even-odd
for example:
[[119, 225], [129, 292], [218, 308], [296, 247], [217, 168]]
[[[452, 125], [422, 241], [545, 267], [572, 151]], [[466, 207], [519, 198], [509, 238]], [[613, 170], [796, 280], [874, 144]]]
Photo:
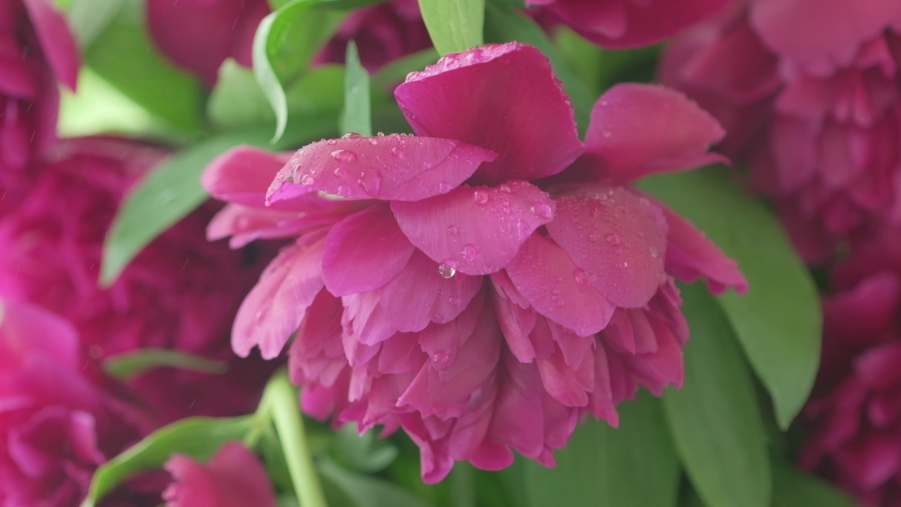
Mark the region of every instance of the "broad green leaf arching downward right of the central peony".
[[655, 176], [641, 186], [738, 261], [751, 288], [719, 301], [786, 429], [814, 385], [822, 316], [815, 283], [778, 219], [722, 167]]

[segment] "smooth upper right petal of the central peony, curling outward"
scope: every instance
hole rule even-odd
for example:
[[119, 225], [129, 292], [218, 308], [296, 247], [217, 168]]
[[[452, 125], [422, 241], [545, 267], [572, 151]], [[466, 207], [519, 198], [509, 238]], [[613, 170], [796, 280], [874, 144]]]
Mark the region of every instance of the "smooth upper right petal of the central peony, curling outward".
[[585, 152], [603, 165], [605, 179], [624, 185], [654, 172], [725, 161], [707, 152], [724, 135], [714, 117], [682, 93], [627, 83], [596, 102]]

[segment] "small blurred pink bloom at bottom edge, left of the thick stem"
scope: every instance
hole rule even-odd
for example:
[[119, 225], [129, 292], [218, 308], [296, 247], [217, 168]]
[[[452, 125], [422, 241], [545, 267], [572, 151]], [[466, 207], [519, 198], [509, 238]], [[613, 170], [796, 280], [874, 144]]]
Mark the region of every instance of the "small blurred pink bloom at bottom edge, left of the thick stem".
[[225, 444], [201, 465], [184, 455], [165, 466], [175, 482], [163, 493], [168, 507], [275, 507], [266, 470], [240, 442]]

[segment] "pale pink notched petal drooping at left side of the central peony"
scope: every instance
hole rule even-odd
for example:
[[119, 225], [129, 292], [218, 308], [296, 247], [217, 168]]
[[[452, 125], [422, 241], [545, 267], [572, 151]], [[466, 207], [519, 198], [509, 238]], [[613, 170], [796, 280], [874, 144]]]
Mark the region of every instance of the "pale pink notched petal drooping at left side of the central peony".
[[304, 243], [278, 253], [241, 303], [232, 328], [235, 354], [247, 357], [251, 348], [259, 346], [264, 359], [278, 356], [323, 290], [325, 242], [302, 239]]

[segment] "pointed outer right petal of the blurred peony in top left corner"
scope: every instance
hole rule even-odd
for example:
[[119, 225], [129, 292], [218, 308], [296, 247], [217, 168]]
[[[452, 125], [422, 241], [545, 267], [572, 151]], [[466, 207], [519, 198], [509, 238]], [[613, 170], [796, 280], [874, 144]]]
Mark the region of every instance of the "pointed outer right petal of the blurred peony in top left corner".
[[66, 18], [50, 0], [23, 0], [32, 20], [41, 51], [50, 61], [53, 73], [69, 89], [75, 90], [78, 78], [78, 45], [68, 30]]

